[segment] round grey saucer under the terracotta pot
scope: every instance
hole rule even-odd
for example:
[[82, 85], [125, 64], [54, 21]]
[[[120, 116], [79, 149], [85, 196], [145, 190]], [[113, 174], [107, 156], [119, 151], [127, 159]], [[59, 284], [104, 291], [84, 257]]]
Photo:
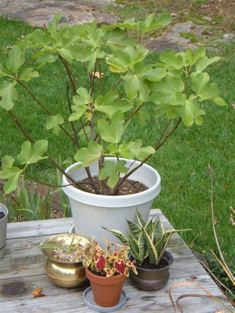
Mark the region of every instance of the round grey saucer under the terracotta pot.
[[88, 308], [94, 310], [94, 311], [98, 311], [98, 312], [113, 312], [113, 311], [117, 311], [120, 308], [122, 308], [126, 302], [126, 294], [125, 292], [122, 290], [121, 291], [121, 295], [120, 295], [120, 300], [118, 302], [118, 304], [114, 307], [110, 307], [110, 308], [104, 308], [104, 307], [100, 307], [95, 303], [94, 300], [94, 295], [93, 295], [93, 291], [91, 289], [91, 287], [88, 287], [84, 292], [83, 292], [83, 300], [84, 303], [87, 305]]

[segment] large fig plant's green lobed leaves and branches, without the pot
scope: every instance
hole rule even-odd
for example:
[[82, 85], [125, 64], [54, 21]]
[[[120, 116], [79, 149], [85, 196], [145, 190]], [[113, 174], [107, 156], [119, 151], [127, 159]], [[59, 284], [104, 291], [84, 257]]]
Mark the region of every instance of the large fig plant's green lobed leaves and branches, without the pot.
[[[0, 177], [7, 179], [5, 193], [17, 187], [20, 175], [35, 180], [29, 174], [28, 166], [45, 158], [71, 184], [88, 191], [83, 182], [75, 181], [48, 155], [48, 140], [35, 141], [17, 119], [17, 110], [21, 110], [17, 88], [24, 89], [44, 110], [47, 130], [55, 135], [63, 131], [74, 144], [76, 153], [68, 156], [64, 164], [73, 162], [73, 159], [80, 161], [95, 193], [106, 195], [117, 195], [123, 181], [161, 148], [181, 122], [186, 127], [194, 122], [201, 125], [205, 114], [201, 108], [203, 101], [226, 105], [220, 97], [218, 86], [210, 82], [205, 72], [206, 67], [220, 57], [208, 58], [205, 48], [175, 54], [163, 52], [160, 54], [161, 62], [149, 62], [150, 51], [141, 44], [141, 39], [148, 31], [169, 24], [169, 14], [155, 17], [153, 13], [145, 21], [127, 19], [120, 24], [100, 27], [97, 20], [87, 25], [69, 27], [65, 24], [59, 27], [60, 17], [59, 13], [53, 23], [48, 23], [47, 29], [36, 29], [18, 41], [8, 53], [5, 64], [0, 64], [0, 77], [3, 77], [0, 82], [0, 106], [7, 110], [27, 138], [17, 160], [11, 156], [2, 157]], [[126, 36], [128, 30], [136, 36]], [[39, 71], [25, 64], [28, 50], [33, 52], [32, 57]], [[69, 84], [65, 88], [67, 114], [51, 112], [38, 95], [27, 87], [27, 82], [37, 79], [40, 69], [52, 62], [61, 62], [68, 77]], [[85, 64], [87, 82], [75, 78], [76, 73], [71, 70], [74, 63], [81, 65], [81, 70]], [[102, 75], [105, 70], [117, 77], [116, 83], [107, 92], [104, 89], [109, 78]], [[43, 92], [39, 96], [43, 99]], [[139, 127], [144, 127], [147, 121], [160, 115], [166, 115], [168, 120], [162, 133], [154, 138], [152, 146], [144, 147], [140, 138], [128, 142], [123, 140], [131, 124], [137, 122]], [[108, 156], [116, 160], [105, 160]], [[121, 158], [138, 160], [140, 163], [129, 170], [126, 161]], [[94, 162], [99, 163], [101, 187], [95, 184], [90, 172], [89, 166]]]

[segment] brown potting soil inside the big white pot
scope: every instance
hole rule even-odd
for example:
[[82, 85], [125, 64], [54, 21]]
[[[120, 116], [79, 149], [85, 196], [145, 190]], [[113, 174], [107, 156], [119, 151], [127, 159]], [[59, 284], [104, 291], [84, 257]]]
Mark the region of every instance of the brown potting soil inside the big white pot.
[[[98, 176], [94, 176], [93, 177], [94, 182], [96, 184], [96, 186], [101, 189], [101, 183], [99, 181]], [[90, 190], [92, 193], [95, 193], [93, 187], [90, 184], [90, 181], [88, 178], [85, 178], [83, 180], [81, 180], [80, 182], [84, 183], [82, 185], [82, 187]], [[131, 180], [131, 179], [126, 179], [120, 186], [119, 191], [117, 193], [117, 196], [123, 196], [123, 195], [132, 195], [132, 194], [138, 194], [139, 192], [145, 191], [149, 189], [145, 184], [139, 182], [139, 181], [135, 181], [135, 180]]]

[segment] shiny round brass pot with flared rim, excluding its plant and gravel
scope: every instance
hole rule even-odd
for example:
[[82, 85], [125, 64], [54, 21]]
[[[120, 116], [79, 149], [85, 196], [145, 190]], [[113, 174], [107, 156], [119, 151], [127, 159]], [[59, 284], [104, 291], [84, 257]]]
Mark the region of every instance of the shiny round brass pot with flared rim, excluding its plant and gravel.
[[[74, 237], [73, 243], [76, 244], [80, 239], [80, 244], [84, 247], [90, 245], [90, 238], [79, 234], [59, 234], [44, 241], [42, 244], [65, 244], [69, 245]], [[81, 259], [79, 262], [75, 261], [61, 261], [53, 256], [54, 248], [42, 249], [44, 255], [48, 258], [45, 269], [48, 278], [56, 285], [65, 288], [73, 288], [82, 286], [88, 283], [86, 278], [85, 267], [82, 265]]]

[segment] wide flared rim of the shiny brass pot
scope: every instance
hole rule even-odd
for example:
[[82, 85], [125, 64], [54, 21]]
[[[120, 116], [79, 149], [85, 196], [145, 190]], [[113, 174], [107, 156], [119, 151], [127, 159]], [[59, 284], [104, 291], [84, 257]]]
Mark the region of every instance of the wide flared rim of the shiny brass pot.
[[[74, 237], [75, 236], [75, 237]], [[71, 240], [72, 238], [74, 237], [74, 241], [73, 243], [76, 244], [80, 239], [80, 244], [83, 245], [84, 247], [86, 246], [90, 246], [90, 243], [91, 243], [91, 238], [90, 237], [85, 237], [85, 236], [81, 236], [79, 234], [70, 234], [70, 233], [64, 233], [64, 234], [59, 234], [59, 235], [55, 235], [55, 236], [52, 236], [51, 238], [47, 239], [46, 241], [43, 241], [41, 245], [45, 245], [45, 244], [56, 244], [56, 245], [61, 245], [61, 244], [65, 244], [65, 245], [69, 245], [71, 243]], [[62, 261], [62, 260], [58, 260], [56, 259], [54, 256], [53, 256], [53, 250], [55, 248], [44, 248], [44, 249], [41, 249], [42, 252], [44, 253], [44, 255], [52, 260], [52, 261], [56, 261], [56, 262], [59, 262], [59, 263], [76, 263], [76, 261]], [[83, 260], [85, 260], [85, 258], [82, 258], [79, 260], [79, 262], [82, 262]], [[78, 263], [79, 263], [78, 262]]]

